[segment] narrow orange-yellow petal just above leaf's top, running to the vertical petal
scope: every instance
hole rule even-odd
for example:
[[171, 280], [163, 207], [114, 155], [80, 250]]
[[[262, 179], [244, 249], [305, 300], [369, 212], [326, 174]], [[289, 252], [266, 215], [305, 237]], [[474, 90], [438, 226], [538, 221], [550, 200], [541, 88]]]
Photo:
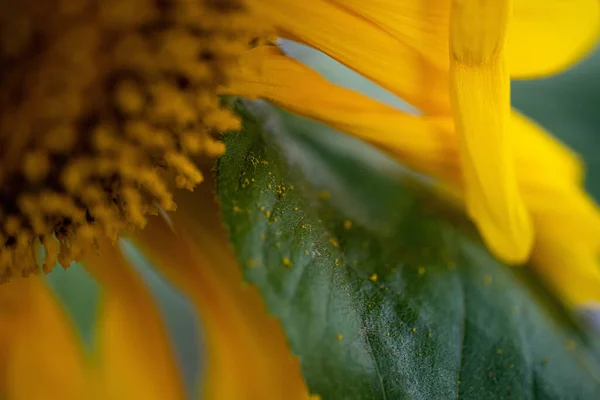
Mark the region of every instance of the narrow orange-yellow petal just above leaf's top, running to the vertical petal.
[[[447, 143], [448, 119], [438, 124], [434, 117], [417, 118], [334, 85], [276, 47], [248, 51], [242, 66], [224, 93], [262, 98], [321, 121], [394, 154], [421, 172], [459, 173], [456, 150]], [[412, 165], [413, 160], [418, 165]]]

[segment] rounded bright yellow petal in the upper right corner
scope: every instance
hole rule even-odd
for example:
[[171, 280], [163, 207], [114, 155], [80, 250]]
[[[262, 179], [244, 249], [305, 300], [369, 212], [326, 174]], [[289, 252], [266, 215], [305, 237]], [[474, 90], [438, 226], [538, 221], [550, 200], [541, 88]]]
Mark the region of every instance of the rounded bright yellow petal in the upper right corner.
[[598, 0], [515, 0], [507, 38], [511, 76], [560, 72], [589, 53], [600, 37]]

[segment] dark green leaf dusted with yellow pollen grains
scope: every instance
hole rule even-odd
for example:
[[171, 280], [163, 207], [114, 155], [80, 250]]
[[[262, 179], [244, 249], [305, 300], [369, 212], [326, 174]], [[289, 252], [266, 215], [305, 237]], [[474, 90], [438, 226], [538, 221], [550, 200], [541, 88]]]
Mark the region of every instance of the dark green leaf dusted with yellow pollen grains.
[[292, 134], [302, 128], [288, 116], [245, 119], [218, 166], [223, 217], [311, 391], [599, 398], [587, 338], [451, 207], [410, 178]]

